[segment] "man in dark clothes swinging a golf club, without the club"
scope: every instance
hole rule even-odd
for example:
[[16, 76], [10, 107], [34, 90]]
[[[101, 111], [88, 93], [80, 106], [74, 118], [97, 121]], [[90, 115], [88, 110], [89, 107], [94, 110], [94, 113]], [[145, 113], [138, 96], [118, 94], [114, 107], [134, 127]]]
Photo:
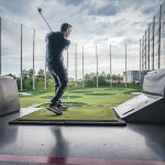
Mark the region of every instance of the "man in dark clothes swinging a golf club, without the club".
[[67, 50], [70, 41], [67, 37], [72, 33], [72, 25], [63, 23], [59, 32], [50, 32], [46, 35], [46, 66], [55, 81], [55, 95], [47, 109], [56, 114], [63, 114], [62, 96], [67, 88], [68, 75], [64, 65], [63, 51]]

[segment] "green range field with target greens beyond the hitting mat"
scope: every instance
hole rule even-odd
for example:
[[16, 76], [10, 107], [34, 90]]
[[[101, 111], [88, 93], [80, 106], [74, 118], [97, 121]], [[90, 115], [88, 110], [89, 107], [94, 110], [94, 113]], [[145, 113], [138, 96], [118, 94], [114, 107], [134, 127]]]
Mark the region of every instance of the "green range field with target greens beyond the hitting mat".
[[[67, 90], [63, 102], [76, 106], [117, 106], [134, 97], [139, 92], [134, 88], [81, 88]], [[21, 107], [48, 103], [53, 97], [51, 91], [29, 91], [32, 96], [20, 96]]]

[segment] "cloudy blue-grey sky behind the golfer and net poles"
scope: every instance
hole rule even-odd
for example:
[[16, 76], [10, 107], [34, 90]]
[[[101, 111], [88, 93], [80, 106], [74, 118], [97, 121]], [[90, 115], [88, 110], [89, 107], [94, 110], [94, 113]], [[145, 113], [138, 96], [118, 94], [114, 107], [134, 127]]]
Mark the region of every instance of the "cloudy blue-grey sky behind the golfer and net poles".
[[[37, 13], [43, 14], [54, 31], [64, 22], [73, 25], [69, 36], [68, 73], [75, 77], [77, 44], [77, 73], [82, 73], [82, 46], [85, 74], [96, 73], [96, 46], [99, 73], [110, 70], [110, 44], [112, 73], [125, 69], [125, 43], [128, 70], [140, 68], [140, 40], [144, 35], [163, 0], [0, 0], [2, 18], [2, 75], [20, 74], [20, 24], [23, 24], [23, 69], [33, 67], [33, 32], [35, 29], [35, 70], [44, 69], [45, 35], [48, 28]], [[64, 53], [67, 64], [66, 52]]]

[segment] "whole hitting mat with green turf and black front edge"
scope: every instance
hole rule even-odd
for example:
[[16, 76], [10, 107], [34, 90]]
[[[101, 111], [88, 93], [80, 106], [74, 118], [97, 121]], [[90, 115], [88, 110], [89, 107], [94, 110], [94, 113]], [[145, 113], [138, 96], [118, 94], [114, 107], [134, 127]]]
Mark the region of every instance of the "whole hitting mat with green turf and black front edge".
[[69, 107], [63, 111], [63, 116], [42, 108], [35, 112], [10, 121], [10, 124], [48, 124], [48, 125], [125, 125], [125, 122], [118, 119], [110, 107]]

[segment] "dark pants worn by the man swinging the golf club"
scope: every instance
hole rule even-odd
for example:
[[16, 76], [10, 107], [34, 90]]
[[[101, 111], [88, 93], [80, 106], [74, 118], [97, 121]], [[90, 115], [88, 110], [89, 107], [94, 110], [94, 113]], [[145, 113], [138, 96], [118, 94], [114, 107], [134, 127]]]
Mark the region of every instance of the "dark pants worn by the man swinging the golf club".
[[47, 66], [55, 81], [55, 95], [51, 100], [52, 105], [59, 105], [65, 90], [67, 89], [68, 74], [64, 65]]

